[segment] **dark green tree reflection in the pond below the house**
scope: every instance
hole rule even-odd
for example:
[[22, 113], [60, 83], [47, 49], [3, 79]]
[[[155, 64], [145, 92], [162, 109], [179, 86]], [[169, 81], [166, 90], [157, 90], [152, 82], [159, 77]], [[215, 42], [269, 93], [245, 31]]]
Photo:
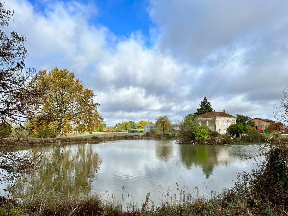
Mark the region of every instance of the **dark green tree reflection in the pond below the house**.
[[182, 161], [187, 168], [192, 165], [200, 165], [207, 179], [213, 173], [213, 167], [217, 164], [217, 152], [214, 146], [208, 145], [179, 145]]

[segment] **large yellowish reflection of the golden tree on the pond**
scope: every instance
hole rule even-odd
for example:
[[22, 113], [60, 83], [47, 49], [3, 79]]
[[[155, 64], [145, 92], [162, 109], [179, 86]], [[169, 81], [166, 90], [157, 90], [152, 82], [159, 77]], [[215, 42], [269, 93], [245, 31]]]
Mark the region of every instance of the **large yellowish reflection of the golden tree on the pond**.
[[[33, 149], [33, 154], [40, 150]], [[43, 187], [68, 191], [87, 187], [94, 180], [100, 161], [92, 145], [53, 145], [46, 150], [42, 168], [24, 176], [18, 183], [20, 192], [39, 191]]]

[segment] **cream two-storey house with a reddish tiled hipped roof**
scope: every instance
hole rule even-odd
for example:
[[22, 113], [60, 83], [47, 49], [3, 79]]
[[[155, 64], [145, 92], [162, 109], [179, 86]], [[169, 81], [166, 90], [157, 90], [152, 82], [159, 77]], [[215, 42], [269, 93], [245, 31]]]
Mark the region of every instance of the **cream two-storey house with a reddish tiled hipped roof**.
[[223, 112], [209, 112], [197, 116], [199, 125], [206, 125], [210, 130], [226, 134], [227, 128], [231, 124], [236, 124], [236, 117], [228, 114], [225, 110]]

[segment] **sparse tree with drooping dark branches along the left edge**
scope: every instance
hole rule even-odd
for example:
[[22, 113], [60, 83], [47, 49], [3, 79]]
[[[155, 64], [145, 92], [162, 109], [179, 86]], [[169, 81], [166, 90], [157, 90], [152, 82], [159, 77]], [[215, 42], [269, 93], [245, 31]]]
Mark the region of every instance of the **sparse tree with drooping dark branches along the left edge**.
[[24, 59], [28, 55], [25, 37], [14, 31], [6, 35], [3, 31], [13, 18], [13, 11], [5, 9], [4, 2], [0, 1], [0, 127], [12, 131], [0, 134], [0, 181], [31, 173], [39, 161], [38, 156], [31, 157], [29, 151], [12, 151], [9, 143], [14, 138], [22, 141], [18, 129], [24, 128], [25, 119], [35, 111], [32, 104], [42, 93], [33, 82], [35, 70], [24, 70]]

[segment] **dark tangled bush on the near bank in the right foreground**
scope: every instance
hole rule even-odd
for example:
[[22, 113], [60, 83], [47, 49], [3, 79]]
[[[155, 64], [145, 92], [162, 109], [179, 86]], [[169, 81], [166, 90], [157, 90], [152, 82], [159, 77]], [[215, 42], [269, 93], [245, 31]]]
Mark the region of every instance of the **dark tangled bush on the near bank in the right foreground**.
[[[255, 133], [255, 132], [252, 132]], [[250, 207], [272, 204], [287, 207], [288, 204], [288, 143], [283, 142], [278, 134], [275, 139], [260, 146], [260, 153], [265, 160], [258, 160], [258, 168], [252, 173], [238, 175], [234, 187], [226, 193], [226, 202], [245, 199]]]

